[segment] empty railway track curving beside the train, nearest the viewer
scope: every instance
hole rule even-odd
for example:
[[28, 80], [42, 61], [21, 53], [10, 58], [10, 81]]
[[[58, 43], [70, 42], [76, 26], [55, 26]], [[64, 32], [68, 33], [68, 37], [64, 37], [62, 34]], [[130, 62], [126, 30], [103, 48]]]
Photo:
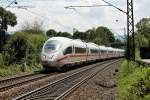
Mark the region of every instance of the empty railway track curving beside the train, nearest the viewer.
[[84, 67], [84, 70], [79, 70], [75, 73], [67, 75], [61, 79], [51, 82], [41, 88], [28, 92], [24, 95], [14, 98], [14, 100], [60, 100], [64, 99], [74, 89], [85, 83], [87, 80], [95, 76], [109, 65], [118, 62], [119, 60], [105, 61], [99, 64], [94, 64], [91, 67]]

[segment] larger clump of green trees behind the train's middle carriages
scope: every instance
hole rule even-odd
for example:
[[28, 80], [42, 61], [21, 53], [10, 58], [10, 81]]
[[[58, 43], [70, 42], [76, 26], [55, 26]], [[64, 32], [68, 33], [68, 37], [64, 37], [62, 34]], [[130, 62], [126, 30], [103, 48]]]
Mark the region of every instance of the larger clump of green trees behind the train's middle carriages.
[[106, 46], [111, 46], [111, 43], [115, 42], [113, 33], [107, 27], [103, 26], [89, 29], [85, 32], [76, 31], [73, 34], [73, 38]]

